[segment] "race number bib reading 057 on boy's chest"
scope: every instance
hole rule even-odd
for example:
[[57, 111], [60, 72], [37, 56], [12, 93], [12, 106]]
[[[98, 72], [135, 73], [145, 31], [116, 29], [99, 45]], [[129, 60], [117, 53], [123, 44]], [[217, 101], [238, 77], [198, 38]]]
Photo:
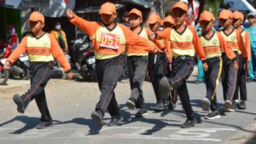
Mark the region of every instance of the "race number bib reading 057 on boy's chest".
[[101, 33], [100, 47], [119, 49], [120, 35]]

